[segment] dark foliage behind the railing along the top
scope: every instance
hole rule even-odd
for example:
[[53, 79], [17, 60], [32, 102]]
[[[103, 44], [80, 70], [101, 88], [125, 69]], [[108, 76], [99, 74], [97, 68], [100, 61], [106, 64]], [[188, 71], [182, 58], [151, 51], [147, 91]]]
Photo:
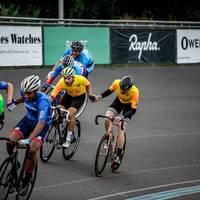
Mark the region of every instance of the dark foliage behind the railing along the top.
[[[64, 0], [64, 18], [200, 21], [198, 0]], [[1, 0], [1, 16], [58, 18], [58, 0]]]

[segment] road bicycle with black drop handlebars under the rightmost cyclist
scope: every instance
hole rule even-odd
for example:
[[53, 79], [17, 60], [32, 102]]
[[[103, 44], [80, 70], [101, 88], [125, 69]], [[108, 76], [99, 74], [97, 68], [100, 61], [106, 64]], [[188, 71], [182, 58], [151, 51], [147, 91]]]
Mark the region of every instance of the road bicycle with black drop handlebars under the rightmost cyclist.
[[[104, 115], [97, 115], [95, 118], [95, 123], [98, 125], [98, 118], [109, 119], [111, 122], [111, 126], [107, 133], [105, 133], [98, 145], [96, 157], [95, 157], [95, 175], [100, 176], [105, 169], [105, 166], [108, 162], [111, 162], [112, 172], [115, 173], [122, 163], [122, 159], [124, 156], [125, 148], [126, 148], [126, 134], [124, 133], [125, 141], [122, 149], [122, 153], [120, 155], [120, 159], [118, 163], [114, 163], [114, 159], [116, 157], [117, 150], [117, 134], [114, 133], [113, 126], [118, 126], [118, 124], [114, 123], [114, 120], [111, 120], [109, 117]], [[121, 129], [123, 130], [124, 120], [121, 120]]]

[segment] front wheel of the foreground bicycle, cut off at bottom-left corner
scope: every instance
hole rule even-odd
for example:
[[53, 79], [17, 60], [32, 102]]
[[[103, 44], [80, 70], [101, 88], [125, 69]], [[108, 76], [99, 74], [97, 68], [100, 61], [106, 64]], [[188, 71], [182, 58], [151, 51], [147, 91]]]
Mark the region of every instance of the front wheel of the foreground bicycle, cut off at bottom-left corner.
[[0, 199], [6, 200], [13, 183], [12, 159], [6, 158], [0, 166]]

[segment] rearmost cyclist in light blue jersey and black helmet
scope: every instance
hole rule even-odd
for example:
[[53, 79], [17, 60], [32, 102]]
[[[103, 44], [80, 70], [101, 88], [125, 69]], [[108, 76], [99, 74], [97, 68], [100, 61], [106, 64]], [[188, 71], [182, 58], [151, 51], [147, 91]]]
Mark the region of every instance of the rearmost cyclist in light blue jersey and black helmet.
[[66, 55], [71, 55], [75, 61], [78, 61], [85, 66], [88, 74], [94, 69], [92, 54], [87, 49], [84, 49], [82, 42], [73, 41], [71, 47], [64, 52], [61, 59], [54, 65], [53, 70], [60, 62], [62, 62]]

